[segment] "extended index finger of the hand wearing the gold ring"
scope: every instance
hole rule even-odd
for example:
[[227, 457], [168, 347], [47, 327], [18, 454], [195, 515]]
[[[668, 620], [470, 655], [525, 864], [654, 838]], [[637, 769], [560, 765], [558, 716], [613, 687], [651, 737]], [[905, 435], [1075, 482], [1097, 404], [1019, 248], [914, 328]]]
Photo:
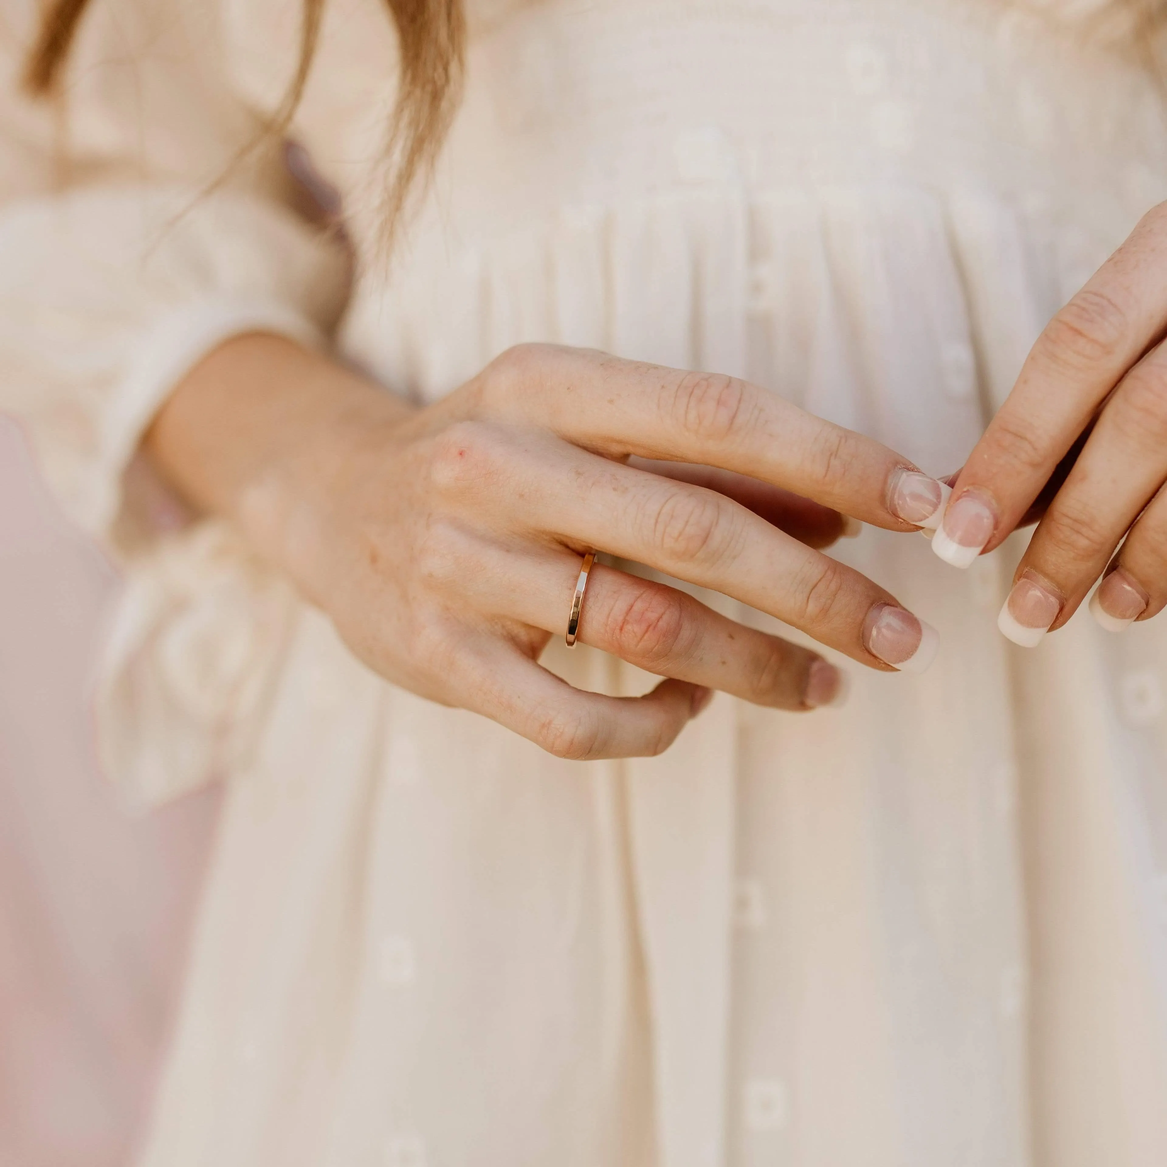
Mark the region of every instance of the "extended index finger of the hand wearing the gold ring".
[[878, 441], [736, 377], [520, 345], [484, 383], [490, 407], [585, 449], [733, 470], [893, 531], [935, 526], [946, 488]]

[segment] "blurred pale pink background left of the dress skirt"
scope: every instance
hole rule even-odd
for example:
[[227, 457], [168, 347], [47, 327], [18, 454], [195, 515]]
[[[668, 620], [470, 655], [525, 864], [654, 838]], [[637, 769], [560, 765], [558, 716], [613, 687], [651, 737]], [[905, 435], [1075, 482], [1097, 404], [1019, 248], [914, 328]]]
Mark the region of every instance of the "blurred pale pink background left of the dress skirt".
[[0, 418], [0, 1163], [120, 1167], [176, 1001], [217, 794], [132, 815], [86, 676], [112, 568]]

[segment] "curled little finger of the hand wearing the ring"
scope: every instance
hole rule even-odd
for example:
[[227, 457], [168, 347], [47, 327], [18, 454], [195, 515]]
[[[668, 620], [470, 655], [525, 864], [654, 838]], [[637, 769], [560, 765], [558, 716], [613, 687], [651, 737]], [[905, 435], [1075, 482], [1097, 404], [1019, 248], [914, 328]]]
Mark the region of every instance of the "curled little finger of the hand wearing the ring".
[[655, 756], [713, 696], [700, 685], [664, 680], [644, 697], [605, 697], [574, 689], [517, 649], [491, 649], [474, 668], [477, 700], [470, 708], [557, 757]]

